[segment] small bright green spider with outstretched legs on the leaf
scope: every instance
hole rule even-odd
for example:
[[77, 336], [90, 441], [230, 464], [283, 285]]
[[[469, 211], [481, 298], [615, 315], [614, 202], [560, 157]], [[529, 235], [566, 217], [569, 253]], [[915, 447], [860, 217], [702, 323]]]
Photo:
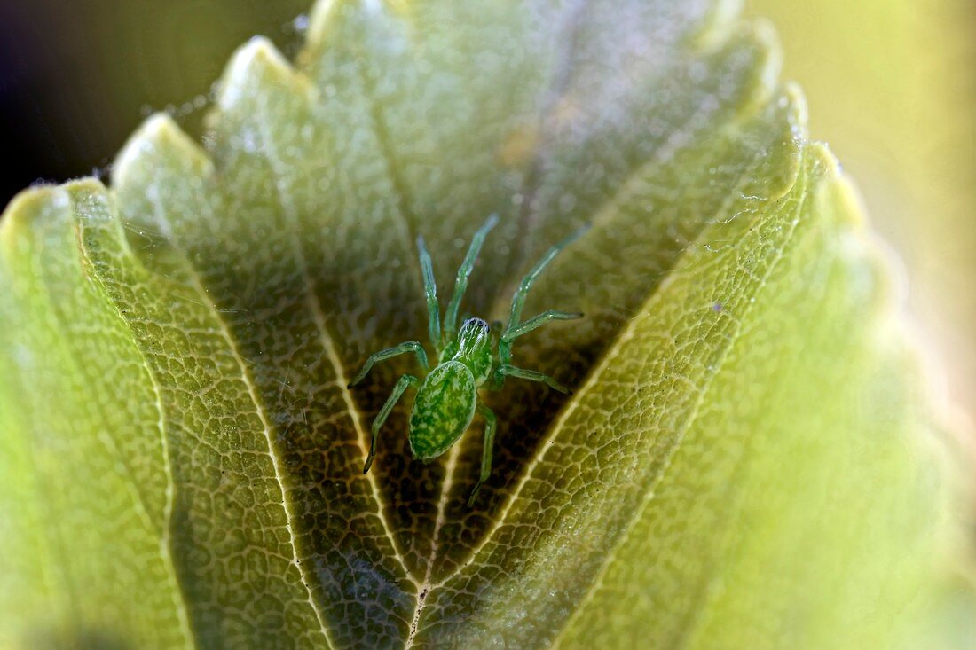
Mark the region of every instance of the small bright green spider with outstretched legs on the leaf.
[[468, 318], [458, 330], [458, 308], [461, 306], [461, 299], [468, 288], [468, 276], [471, 273], [471, 267], [478, 257], [485, 236], [497, 223], [498, 217], [492, 215], [474, 233], [471, 245], [468, 248], [468, 255], [465, 256], [465, 261], [458, 269], [454, 294], [451, 296], [451, 302], [447, 305], [447, 312], [444, 315], [443, 331], [441, 330], [440, 305], [437, 303], [437, 286], [433, 280], [433, 266], [430, 263], [430, 255], [424, 245], [424, 238], [417, 238], [421, 269], [424, 274], [424, 291], [427, 295], [430, 343], [437, 352], [437, 367], [427, 374], [427, 352], [424, 350], [424, 346], [417, 341], [408, 341], [387, 347], [370, 356], [363, 364], [362, 370], [348, 386], [351, 388], [361, 382], [378, 361], [406, 352], [413, 352], [417, 355], [417, 361], [426, 374], [423, 383], [413, 375], [404, 375], [393, 387], [393, 392], [386, 399], [386, 404], [383, 405], [376, 420], [373, 421], [373, 437], [363, 473], [369, 471], [370, 466], [373, 465], [373, 456], [376, 454], [376, 438], [380, 428], [383, 427], [390, 411], [393, 410], [393, 406], [409, 386], [420, 385], [420, 390], [417, 392], [410, 413], [410, 430], [408, 433], [410, 451], [414, 458], [425, 462], [437, 458], [453, 447], [454, 443], [468, 430], [475, 413], [484, 419], [485, 433], [484, 448], [481, 453], [481, 474], [468, 499], [468, 507], [474, 503], [475, 495], [491, 474], [492, 444], [495, 440], [497, 424], [497, 418], [491, 409], [478, 401], [478, 388], [485, 386], [490, 390], [498, 390], [505, 383], [506, 377], [516, 377], [531, 382], [542, 382], [555, 390], [568, 393], [568, 388], [560, 385], [548, 375], [534, 370], [523, 370], [511, 365], [511, 343], [518, 337], [528, 334], [550, 321], [583, 317], [582, 313], [550, 309], [525, 322], [520, 321], [522, 306], [525, 305], [525, 297], [532, 287], [533, 281], [552, 262], [556, 254], [583, 234], [587, 227], [578, 230], [550, 248], [542, 260], [522, 278], [522, 282], [511, 300], [508, 325], [501, 332], [501, 335], [497, 332], [500, 324], [496, 326], [496, 332], [492, 334], [488, 323], [481, 318]]

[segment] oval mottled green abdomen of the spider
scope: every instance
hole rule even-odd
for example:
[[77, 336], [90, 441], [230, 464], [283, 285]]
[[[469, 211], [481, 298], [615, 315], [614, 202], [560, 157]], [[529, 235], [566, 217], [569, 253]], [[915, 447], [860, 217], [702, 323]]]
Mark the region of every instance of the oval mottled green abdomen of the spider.
[[477, 404], [474, 376], [460, 361], [434, 368], [417, 391], [410, 413], [410, 451], [426, 461], [450, 449], [468, 430]]

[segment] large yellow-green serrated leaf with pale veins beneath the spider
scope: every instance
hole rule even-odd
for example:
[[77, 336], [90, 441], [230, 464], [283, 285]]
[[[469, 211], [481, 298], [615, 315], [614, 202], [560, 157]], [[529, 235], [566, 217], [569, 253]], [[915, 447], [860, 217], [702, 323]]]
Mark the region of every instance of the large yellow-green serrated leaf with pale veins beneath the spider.
[[[706, 2], [323, 2], [0, 225], [0, 643], [892, 647], [944, 585], [938, 426], [768, 27]], [[370, 422], [464, 309], [581, 309], [411, 459]], [[919, 624], [920, 625], [920, 624]]]

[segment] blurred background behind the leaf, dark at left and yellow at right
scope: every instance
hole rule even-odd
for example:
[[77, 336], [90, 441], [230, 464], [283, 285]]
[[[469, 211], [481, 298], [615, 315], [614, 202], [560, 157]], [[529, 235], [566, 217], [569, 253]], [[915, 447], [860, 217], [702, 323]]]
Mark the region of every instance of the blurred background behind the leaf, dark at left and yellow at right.
[[[212, 84], [251, 35], [301, 46], [310, 0], [0, 1], [0, 202], [104, 169], [143, 117], [199, 135]], [[910, 318], [945, 390], [976, 413], [976, 3], [746, 0], [775, 24], [810, 131], [861, 188], [903, 263]], [[938, 384], [938, 382], [936, 382]]]

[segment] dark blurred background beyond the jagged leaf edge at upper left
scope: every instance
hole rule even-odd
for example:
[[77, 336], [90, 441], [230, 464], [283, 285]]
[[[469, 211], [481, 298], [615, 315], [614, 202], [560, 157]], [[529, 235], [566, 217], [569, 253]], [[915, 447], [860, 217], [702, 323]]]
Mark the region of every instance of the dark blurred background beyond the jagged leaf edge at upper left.
[[0, 209], [37, 182], [104, 170], [150, 112], [191, 134], [230, 54], [291, 56], [311, 0], [0, 0]]

